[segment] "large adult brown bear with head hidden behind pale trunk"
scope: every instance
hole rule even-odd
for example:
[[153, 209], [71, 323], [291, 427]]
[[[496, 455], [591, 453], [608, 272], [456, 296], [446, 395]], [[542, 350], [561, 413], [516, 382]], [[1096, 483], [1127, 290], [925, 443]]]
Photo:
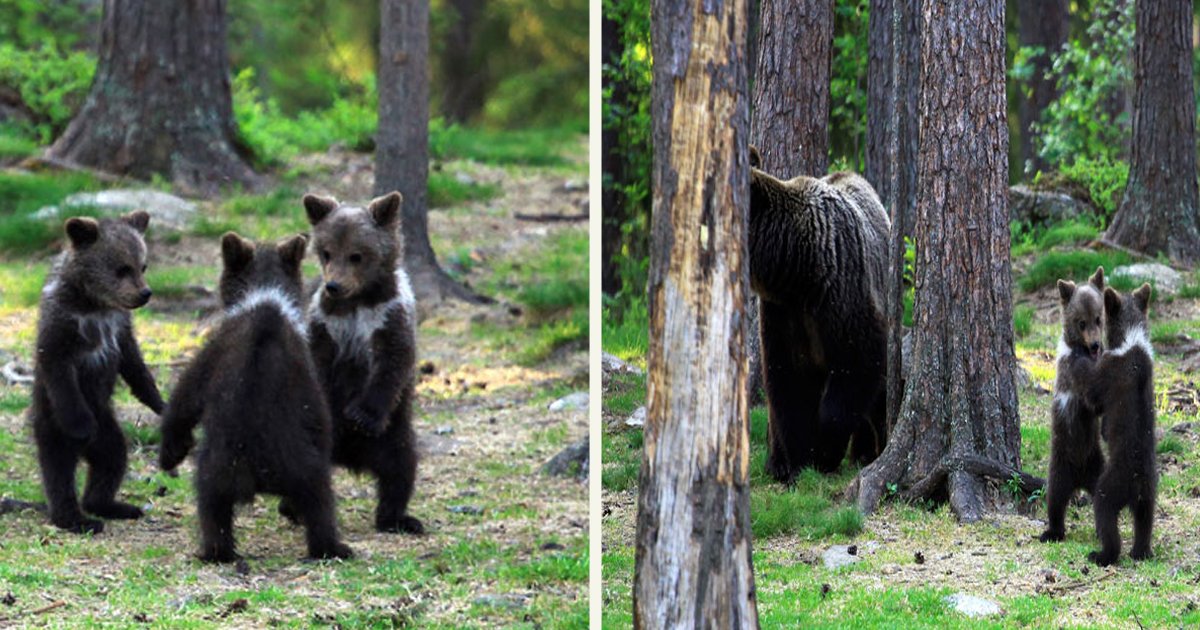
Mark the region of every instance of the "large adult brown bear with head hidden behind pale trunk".
[[767, 469], [868, 463], [887, 427], [884, 269], [890, 224], [853, 173], [779, 180], [750, 156], [750, 284], [762, 308], [763, 383], [770, 413]]

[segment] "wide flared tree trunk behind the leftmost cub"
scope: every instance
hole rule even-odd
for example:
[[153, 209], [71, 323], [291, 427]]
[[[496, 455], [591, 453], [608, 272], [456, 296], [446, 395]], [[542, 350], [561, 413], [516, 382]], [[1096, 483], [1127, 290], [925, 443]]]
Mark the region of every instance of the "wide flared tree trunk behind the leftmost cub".
[[258, 182], [238, 146], [224, 0], [106, 0], [83, 108], [47, 156], [212, 194]]

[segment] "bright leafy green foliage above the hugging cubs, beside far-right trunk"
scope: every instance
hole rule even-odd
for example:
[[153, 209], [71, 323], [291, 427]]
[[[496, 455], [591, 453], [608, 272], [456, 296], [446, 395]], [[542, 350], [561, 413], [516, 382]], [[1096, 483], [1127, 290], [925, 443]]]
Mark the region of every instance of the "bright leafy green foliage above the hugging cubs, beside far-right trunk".
[[[1096, 0], [1082, 37], [1051, 52], [1050, 76], [1061, 96], [1034, 124], [1038, 155], [1050, 164], [1075, 156], [1116, 163], [1129, 138], [1129, 115], [1112, 116], [1112, 104], [1133, 83], [1133, 2]], [[1018, 50], [1012, 74], [1028, 77], [1028, 60], [1039, 50]]]

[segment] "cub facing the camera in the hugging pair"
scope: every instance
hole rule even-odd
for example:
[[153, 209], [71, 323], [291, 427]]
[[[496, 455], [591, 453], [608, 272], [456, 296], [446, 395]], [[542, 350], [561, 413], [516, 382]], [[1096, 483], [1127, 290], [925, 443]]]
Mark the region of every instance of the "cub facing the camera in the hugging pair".
[[1094, 494], [1096, 480], [1104, 468], [1100, 451], [1099, 418], [1084, 402], [1088, 380], [1078, 373], [1075, 358], [1094, 360], [1100, 354], [1104, 334], [1104, 269], [1097, 269], [1087, 284], [1075, 288], [1058, 281], [1062, 302], [1062, 337], [1058, 340], [1057, 376], [1050, 408], [1050, 474], [1046, 479], [1046, 530], [1039, 540], [1057, 541], [1066, 535], [1067, 504], [1082, 488]]

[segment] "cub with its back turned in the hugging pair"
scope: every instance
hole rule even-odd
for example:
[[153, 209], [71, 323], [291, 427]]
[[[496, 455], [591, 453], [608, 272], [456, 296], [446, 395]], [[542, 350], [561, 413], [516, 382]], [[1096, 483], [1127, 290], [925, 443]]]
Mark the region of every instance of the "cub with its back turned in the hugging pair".
[[1154, 349], [1150, 344], [1146, 313], [1150, 284], [1122, 296], [1111, 288], [1104, 292], [1109, 352], [1099, 360], [1075, 358], [1073, 370], [1086, 384], [1086, 403], [1104, 416], [1104, 443], [1109, 460], [1092, 494], [1096, 536], [1100, 551], [1087, 558], [1108, 566], [1121, 556], [1117, 516], [1128, 506], [1133, 512], [1135, 560], [1150, 558], [1154, 527], [1154, 494], [1158, 472], [1154, 467]]

